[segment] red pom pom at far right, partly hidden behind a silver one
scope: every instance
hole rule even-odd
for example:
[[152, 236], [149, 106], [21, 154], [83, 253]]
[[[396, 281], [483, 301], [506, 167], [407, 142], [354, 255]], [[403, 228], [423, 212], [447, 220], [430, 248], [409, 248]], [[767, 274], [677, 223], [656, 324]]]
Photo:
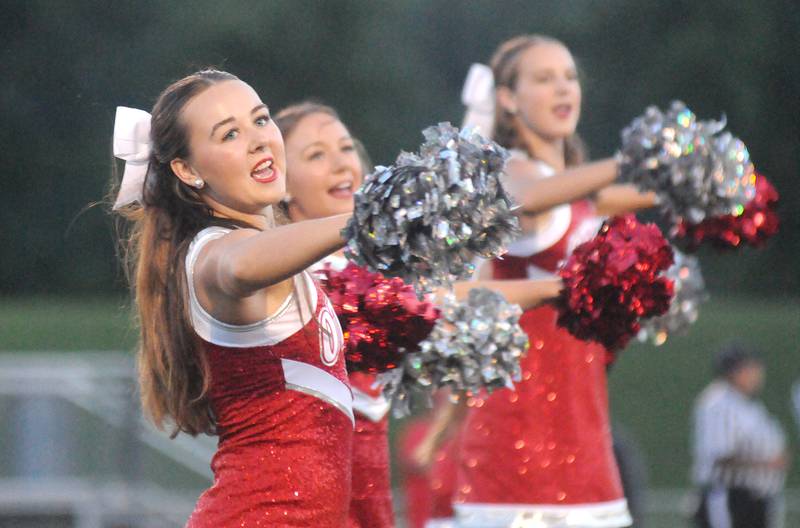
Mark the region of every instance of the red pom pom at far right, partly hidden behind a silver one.
[[756, 195], [745, 205], [742, 214], [707, 218], [699, 224], [681, 222], [673, 231], [689, 251], [709, 243], [718, 249], [735, 249], [749, 244], [761, 247], [778, 232], [776, 212], [778, 191], [761, 174], [756, 174]]

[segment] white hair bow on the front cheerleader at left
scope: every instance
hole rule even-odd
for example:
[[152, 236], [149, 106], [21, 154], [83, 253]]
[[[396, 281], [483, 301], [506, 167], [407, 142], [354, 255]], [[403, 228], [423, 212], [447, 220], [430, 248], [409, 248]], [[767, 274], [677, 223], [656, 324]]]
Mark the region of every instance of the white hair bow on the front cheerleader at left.
[[125, 173], [113, 209], [141, 201], [150, 163], [150, 114], [117, 107], [114, 119], [114, 156], [125, 160]]

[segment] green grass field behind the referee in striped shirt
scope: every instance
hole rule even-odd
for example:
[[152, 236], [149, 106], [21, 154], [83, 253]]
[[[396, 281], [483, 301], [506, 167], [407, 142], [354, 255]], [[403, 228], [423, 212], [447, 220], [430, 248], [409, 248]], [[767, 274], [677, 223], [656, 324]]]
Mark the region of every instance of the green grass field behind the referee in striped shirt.
[[[710, 380], [715, 352], [732, 339], [751, 343], [763, 354], [763, 399], [797, 445], [789, 390], [800, 380], [800, 300], [712, 298], [688, 335], [670, 337], [660, 347], [635, 344], [610, 373], [612, 415], [641, 443], [651, 485], [686, 485], [692, 404]], [[799, 469], [795, 464], [790, 486], [800, 485]]]

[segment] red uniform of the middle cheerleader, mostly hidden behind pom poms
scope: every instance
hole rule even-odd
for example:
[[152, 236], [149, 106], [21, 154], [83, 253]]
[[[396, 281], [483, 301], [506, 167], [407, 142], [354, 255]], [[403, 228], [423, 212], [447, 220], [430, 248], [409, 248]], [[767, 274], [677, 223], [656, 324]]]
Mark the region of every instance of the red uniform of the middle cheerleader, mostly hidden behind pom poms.
[[[324, 265], [342, 270], [347, 260], [330, 255], [312, 266], [318, 272]], [[375, 376], [352, 372], [355, 435], [353, 436], [352, 497], [348, 528], [392, 528], [394, 508], [390, 482], [389, 402], [379, 388]]]

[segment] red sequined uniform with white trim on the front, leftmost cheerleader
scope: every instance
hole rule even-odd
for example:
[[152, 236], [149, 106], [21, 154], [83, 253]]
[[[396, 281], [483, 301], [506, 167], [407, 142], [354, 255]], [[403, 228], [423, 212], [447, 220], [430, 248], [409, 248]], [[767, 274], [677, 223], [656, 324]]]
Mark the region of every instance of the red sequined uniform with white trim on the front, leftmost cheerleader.
[[192, 324], [208, 353], [219, 445], [214, 484], [186, 526], [341, 528], [353, 414], [338, 320], [307, 273], [295, 278], [297, 295], [264, 321], [228, 325], [205, 312], [193, 290], [194, 262], [226, 232], [201, 231], [187, 255]]

